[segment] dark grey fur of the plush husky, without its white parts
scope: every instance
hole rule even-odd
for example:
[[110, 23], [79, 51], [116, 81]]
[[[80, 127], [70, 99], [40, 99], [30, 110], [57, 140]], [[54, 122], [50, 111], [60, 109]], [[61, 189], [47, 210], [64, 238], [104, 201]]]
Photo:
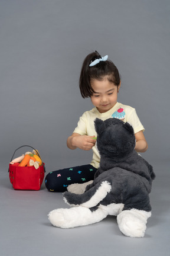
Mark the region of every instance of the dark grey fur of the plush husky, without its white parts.
[[70, 205], [81, 205], [91, 199], [103, 181], [112, 190], [91, 211], [102, 204], [122, 203], [123, 210], [138, 209], [151, 212], [149, 193], [155, 178], [152, 166], [135, 151], [135, 135], [132, 126], [119, 119], [94, 121], [97, 132], [97, 148], [101, 160], [92, 184], [84, 194], [64, 193]]

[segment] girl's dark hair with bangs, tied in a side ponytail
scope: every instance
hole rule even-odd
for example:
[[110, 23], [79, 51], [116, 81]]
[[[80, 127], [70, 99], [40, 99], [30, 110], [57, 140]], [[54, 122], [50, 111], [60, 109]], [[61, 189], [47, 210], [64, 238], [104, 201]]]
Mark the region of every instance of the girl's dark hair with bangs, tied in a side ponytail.
[[83, 98], [88, 98], [93, 95], [94, 91], [91, 87], [91, 80], [93, 79], [102, 81], [104, 76], [107, 76], [108, 81], [112, 82], [117, 87], [120, 84], [119, 71], [111, 60], [100, 61], [94, 66], [89, 66], [91, 62], [100, 58], [101, 56], [96, 51], [90, 53], [84, 59], [79, 79], [80, 92]]

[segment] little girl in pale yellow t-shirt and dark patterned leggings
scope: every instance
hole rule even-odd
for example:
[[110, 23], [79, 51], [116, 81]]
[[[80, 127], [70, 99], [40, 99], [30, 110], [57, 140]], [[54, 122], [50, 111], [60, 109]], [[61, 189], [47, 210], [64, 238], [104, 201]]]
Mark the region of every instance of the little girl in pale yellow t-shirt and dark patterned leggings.
[[69, 184], [85, 183], [94, 179], [99, 168], [100, 155], [96, 146], [96, 131], [94, 120], [106, 120], [115, 117], [128, 121], [134, 129], [136, 137], [135, 149], [145, 152], [148, 149], [143, 131], [145, 130], [136, 114], [135, 108], [117, 102], [117, 94], [121, 81], [119, 71], [108, 56], [101, 57], [98, 52], [87, 55], [80, 73], [80, 92], [83, 98], [90, 97], [94, 108], [86, 111], [77, 124], [73, 134], [67, 139], [70, 149], [80, 148], [85, 151], [93, 150], [90, 164], [78, 167], [60, 169], [47, 174], [45, 185], [48, 191], [63, 192]]

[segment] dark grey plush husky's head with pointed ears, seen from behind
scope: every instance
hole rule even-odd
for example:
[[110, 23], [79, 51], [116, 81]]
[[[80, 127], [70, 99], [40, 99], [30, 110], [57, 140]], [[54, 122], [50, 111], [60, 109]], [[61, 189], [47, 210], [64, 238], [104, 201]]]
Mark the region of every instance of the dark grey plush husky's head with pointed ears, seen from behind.
[[97, 148], [102, 156], [122, 159], [135, 148], [135, 135], [129, 123], [115, 118], [94, 120], [97, 132]]

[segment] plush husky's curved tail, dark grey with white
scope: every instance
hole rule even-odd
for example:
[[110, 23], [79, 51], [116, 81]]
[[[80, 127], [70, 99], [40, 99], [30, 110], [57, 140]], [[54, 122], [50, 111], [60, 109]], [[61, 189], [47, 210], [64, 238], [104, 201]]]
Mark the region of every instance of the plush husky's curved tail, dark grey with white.
[[64, 201], [70, 206], [84, 206], [91, 208], [97, 206], [112, 189], [108, 181], [97, 183], [83, 194], [74, 194], [68, 191], [63, 193]]

